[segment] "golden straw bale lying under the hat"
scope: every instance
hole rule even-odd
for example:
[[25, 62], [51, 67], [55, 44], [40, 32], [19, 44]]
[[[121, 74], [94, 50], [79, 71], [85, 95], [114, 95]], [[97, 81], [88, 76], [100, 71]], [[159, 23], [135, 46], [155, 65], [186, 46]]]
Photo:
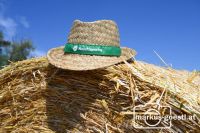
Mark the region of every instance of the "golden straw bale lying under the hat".
[[[195, 72], [139, 61], [85, 72], [57, 69], [46, 58], [17, 62], [0, 70], [0, 132], [195, 133], [200, 130], [199, 83]], [[155, 103], [163, 90], [160, 103], [170, 106], [173, 116], [195, 114], [195, 119], [172, 120], [163, 130], [134, 128], [133, 108]]]

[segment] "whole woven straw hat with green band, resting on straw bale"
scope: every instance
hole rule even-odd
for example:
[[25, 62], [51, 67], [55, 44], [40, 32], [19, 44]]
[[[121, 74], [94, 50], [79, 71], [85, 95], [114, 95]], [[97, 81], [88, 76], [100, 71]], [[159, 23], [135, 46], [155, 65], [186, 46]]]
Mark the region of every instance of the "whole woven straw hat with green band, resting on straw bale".
[[62, 69], [93, 70], [131, 59], [136, 52], [120, 47], [119, 32], [112, 20], [75, 20], [65, 46], [48, 51], [49, 62]]

